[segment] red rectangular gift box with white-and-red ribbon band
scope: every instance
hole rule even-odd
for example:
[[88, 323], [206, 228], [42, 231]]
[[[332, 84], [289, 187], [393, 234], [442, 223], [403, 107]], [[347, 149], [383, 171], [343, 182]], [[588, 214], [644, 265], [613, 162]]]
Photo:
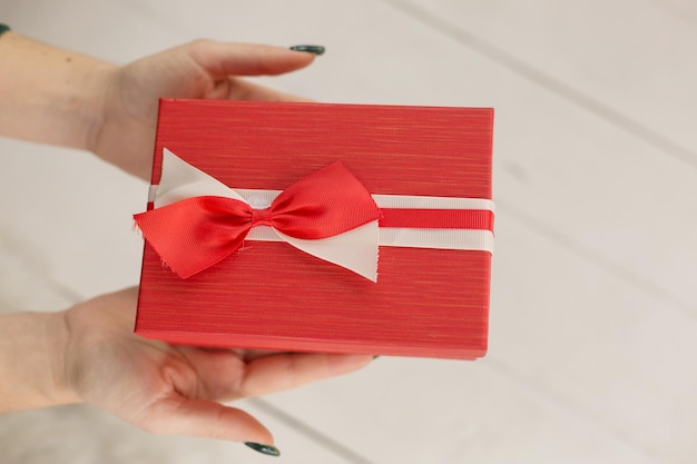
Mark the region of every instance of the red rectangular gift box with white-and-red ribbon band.
[[[161, 178], [168, 154], [244, 191], [252, 204], [255, 191], [276, 195], [341, 161], [380, 208], [377, 280], [252, 233], [232, 253], [183, 278], [176, 259], [165, 259], [144, 229], [136, 333], [196, 346], [483, 356], [492, 122], [487, 108], [161, 100], [150, 200], [160, 184], [170, 188], [177, 181]], [[148, 211], [158, 209], [148, 203]], [[255, 221], [261, 210], [254, 209]], [[198, 239], [181, 238], [188, 211], [180, 209], [160, 236], [184, 243], [177, 245], [181, 259], [195, 260]], [[257, 229], [268, 228], [267, 219], [259, 220]], [[359, 249], [350, 246], [347, 254]]]

